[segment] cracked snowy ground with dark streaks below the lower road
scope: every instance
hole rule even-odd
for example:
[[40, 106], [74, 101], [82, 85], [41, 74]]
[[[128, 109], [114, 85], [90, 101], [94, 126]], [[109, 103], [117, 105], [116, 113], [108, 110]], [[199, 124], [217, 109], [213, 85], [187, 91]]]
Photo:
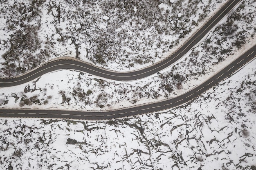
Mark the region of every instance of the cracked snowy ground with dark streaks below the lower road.
[[105, 122], [0, 119], [0, 169], [254, 170], [256, 60], [193, 103]]

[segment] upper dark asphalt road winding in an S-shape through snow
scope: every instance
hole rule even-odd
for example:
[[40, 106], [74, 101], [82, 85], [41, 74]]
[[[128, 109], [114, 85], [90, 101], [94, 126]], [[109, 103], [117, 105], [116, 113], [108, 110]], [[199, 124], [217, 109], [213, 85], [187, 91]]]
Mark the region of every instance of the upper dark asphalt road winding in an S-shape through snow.
[[195, 33], [186, 43], [179, 48], [174, 54], [166, 58], [164, 61], [156, 63], [150, 67], [133, 71], [133, 72], [112, 72], [110, 70], [104, 70], [93, 65], [76, 61], [72, 59], [59, 59], [51, 61], [41, 65], [35, 70], [13, 78], [0, 78], [0, 87], [10, 87], [20, 85], [32, 81], [35, 78], [42, 76], [47, 72], [52, 72], [59, 69], [74, 69], [82, 72], [87, 72], [96, 76], [109, 78], [117, 81], [132, 81], [140, 78], [145, 78], [152, 74], [167, 68], [169, 65], [175, 63], [182, 58], [193, 46], [195, 46], [200, 40], [207, 35], [207, 33], [218, 24], [218, 22], [231, 10], [240, 0], [229, 0], [221, 9], [214, 15], [197, 33]]

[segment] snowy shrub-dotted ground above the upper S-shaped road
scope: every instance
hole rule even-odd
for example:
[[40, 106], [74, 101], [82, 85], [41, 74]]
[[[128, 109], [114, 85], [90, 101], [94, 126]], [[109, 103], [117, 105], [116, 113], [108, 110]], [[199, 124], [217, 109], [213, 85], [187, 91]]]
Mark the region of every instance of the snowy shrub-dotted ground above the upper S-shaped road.
[[161, 61], [227, 0], [0, 3], [0, 75], [70, 56], [116, 71]]

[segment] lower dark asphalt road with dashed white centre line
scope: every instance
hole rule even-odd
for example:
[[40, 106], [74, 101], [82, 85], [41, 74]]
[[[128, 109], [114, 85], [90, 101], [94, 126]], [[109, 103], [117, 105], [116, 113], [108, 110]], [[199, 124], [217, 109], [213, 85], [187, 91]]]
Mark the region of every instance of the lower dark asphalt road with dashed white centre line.
[[137, 116], [146, 113], [162, 111], [175, 108], [189, 103], [203, 92], [206, 92], [217, 83], [227, 78], [239, 68], [256, 57], [256, 46], [242, 54], [238, 59], [229, 64], [213, 77], [201, 85], [191, 89], [189, 92], [164, 101], [128, 107], [112, 111], [63, 111], [63, 110], [40, 110], [40, 109], [0, 109], [0, 117], [11, 118], [62, 118], [79, 120], [112, 120], [130, 116]]

